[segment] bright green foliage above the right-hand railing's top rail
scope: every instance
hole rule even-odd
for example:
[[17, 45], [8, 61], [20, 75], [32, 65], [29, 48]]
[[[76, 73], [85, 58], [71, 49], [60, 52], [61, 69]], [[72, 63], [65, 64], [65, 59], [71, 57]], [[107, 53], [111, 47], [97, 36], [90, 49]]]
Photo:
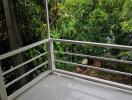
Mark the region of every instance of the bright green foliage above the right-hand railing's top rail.
[[[125, 39], [132, 32], [131, 5], [131, 0], [64, 0], [64, 2], [58, 2], [57, 15], [59, 18], [53, 27], [52, 36], [125, 44]], [[127, 34], [127, 37], [120, 37], [122, 34]], [[116, 41], [118, 37], [124, 41]]]

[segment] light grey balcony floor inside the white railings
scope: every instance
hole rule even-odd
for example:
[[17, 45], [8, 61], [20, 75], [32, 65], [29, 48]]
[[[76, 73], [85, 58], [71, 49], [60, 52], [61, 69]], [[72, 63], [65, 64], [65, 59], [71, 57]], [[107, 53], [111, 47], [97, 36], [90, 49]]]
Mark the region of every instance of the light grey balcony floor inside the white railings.
[[132, 100], [132, 94], [83, 79], [52, 74], [15, 100]]

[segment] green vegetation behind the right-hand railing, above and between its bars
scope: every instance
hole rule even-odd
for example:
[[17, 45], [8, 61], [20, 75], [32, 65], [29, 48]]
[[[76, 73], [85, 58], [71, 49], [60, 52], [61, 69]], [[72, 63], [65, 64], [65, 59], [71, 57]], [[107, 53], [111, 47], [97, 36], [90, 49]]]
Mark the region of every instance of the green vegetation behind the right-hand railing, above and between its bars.
[[[60, 0], [54, 2], [54, 6], [50, 9], [50, 12], [50, 16], [53, 16], [51, 22], [52, 19], [56, 18], [51, 27], [51, 35], [54, 38], [132, 45], [131, 0]], [[56, 44], [55, 48], [58, 51], [132, 60], [132, 51], [126, 50], [99, 48], [90, 45], [64, 45], [61, 43]], [[84, 59], [66, 54], [57, 54], [57, 58], [78, 63], [81, 63]], [[89, 59], [89, 65], [93, 65], [94, 60]], [[131, 65], [129, 64], [109, 61], [99, 62], [105, 68], [132, 72]], [[69, 67], [65, 64], [58, 64], [58, 66], [61, 66], [58, 68], [78, 72], [70, 65]], [[125, 83], [131, 84], [131, 77], [120, 75], [115, 77], [113, 74], [105, 74], [104, 72], [94, 70], [85, 71], [81, 70], [79, 73], [81, 72], [118, 82], [123, 82], [123, 79], [126, 79], [124, 80], [126, 81]]]

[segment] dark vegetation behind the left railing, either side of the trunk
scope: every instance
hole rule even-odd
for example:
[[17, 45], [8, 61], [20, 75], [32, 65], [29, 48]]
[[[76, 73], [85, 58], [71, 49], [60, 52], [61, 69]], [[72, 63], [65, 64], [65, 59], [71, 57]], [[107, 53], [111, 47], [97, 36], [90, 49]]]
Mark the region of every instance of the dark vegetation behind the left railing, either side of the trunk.
[[[29, 45], [31, 43], [45, 39], [47, 37], [46, 36], [47, 26], [45, 22], [45, 14], [44, 14], [45, 10], [44, 10], [44, 5], [42, 1], [13, 0], [13, 9], [15, 12], [16, 23], [18, 26], [18, 34], [21, 36], [22, 45], [19, 47]], [[6, 28], [7, 27], [6, 17], [4, 13], [2, 0], [0, 0], [0, 12], [1, 12], [0, 14], [0, 54], [3, 54], [8, 51], [11, 51], [11, 47], [10, 47], [11, 41], [9, 41], [10, 37], [8, 35], [7, 28]], [[40, 45], [39, 47], [23, 52], [22, 60], [23, 62], [27, 61], [35, 56], [40, 55], [41, 53], [44, 53], [45, 51], [46, 51], [46, 45]], [[45, 62], [46, 60], [47, 60], [47, 57], [44, 56], [23, 66], [25, 72], [31, 70], [32, 68], [38, 66], [39, 64]], [[1, 66], [2, 66], [2, 71], [4, 72], [17, 65], [13, 66], [13, 59], [8, 58], [1, 61]], [[37, 77], [39, 74], [41, 74], [45, 70], [47, 70], [47, 65], [42, 68], [39, 68], [38, 70], [34, 71], [33, 73], [25, 77], [26, 82], [31, 81], [32, 79]], [[4, 76], [6, 84], [21, 75], [21, 74], [15, 75], [16, 71], [17, 70]], [[22, 85], [25, 84], [25, 82], [20, 85], [18, 83], [16, 84], [11, 85], [10, 87], [7, 88], [8, 94], [20, 88]]]

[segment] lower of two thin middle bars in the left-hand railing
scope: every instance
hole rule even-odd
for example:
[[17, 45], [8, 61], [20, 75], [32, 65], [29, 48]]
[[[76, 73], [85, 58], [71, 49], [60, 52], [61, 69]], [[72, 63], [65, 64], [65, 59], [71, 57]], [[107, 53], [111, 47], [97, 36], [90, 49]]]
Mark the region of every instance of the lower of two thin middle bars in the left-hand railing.
[[33, 71], [37, 70], [38, 68], [44, 66], [48, 64], [48, 61], [38, 65], [37, 67], [33, 68], [32, 70], [26, 72], [25, 74], [21, 75], [20, 77], [16, 78], [15, 80], [9, 82], [8, 84], [5, 85], [5, 87], [9, 87], [10, 85], [14, 84], [15, 82], [19, 81], [20, 79], [24, 78], [25, 76], [29, 75], [30, 73], [32, 73]]

